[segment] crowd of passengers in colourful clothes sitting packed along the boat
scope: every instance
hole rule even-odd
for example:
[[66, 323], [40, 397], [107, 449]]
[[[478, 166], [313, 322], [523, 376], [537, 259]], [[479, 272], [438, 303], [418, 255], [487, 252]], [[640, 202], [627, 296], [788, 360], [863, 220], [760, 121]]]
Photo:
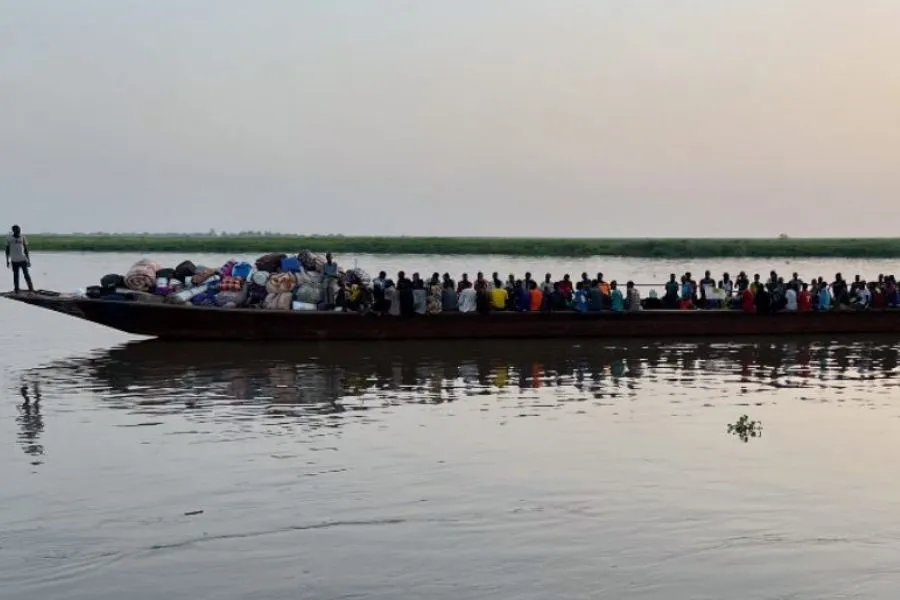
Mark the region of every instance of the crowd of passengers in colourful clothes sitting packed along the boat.
[[866, 282], [858, 275], [846, 281], [840, 273], [830, 283], [824, 278], [802, 280], [797, 273], [785, 280], [775, 271], [763, 280], [751, 280], [741, 271], [732, 279], [728, 273], [719, 280], [709, 271], [695, 280], [690, 273], [675, 274], [663, 286], [659, 297], [651, 291], [642, 299], [637, 286], [629, 281], [624, 288], [615, 280], [606, 281], [603, 273], [589, 277], [582, 273], [578, 281], [567, 274], [554, 281], [548, 273], [542, 281], [526, 273], [505, 281], [497, 273], [490, 278], [478, 273], [474, 280], [464, 273], [455, 281], [448, 273], [434, 273], [423, 279], [418, 273], [407, 277], [401, 271], [396, 281], [382, 271], [371, 289], [347, 288], [339, 294], [339, 306], [347, 310], [374, 311], [389, 315], [434, 314], [440, 312], [518, 311], [613, 311], [631, 312], [654, 309], [733, 309], [753, 313], [805, 312], [812, 310], [865, 310], [900, 306], [900, 292], [893, 276], [879, 275]]

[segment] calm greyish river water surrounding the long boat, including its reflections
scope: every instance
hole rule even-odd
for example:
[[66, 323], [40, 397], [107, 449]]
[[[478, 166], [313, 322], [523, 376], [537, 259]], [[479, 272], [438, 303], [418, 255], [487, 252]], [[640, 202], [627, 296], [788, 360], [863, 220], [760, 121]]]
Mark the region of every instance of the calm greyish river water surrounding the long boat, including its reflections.
[[[36, 283], [136, 258], [36, 255]], [[173, 345], [0, 301], [0, 344], [4, 599], [897, 597], [894, 338]]]

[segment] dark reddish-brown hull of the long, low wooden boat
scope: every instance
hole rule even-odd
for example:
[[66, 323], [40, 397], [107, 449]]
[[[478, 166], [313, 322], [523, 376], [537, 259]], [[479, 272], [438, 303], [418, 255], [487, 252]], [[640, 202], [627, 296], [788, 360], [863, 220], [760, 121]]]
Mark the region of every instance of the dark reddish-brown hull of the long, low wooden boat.
[[900, 310], [745, 314], [732, 310], [632, 313], [443, 313], [410, 318], [343, 312], [185, 307], [51, 292], [3, 294], [136, 335], [171, 340], [441, 340], [681, 338], [746, 335], [900, 334]]

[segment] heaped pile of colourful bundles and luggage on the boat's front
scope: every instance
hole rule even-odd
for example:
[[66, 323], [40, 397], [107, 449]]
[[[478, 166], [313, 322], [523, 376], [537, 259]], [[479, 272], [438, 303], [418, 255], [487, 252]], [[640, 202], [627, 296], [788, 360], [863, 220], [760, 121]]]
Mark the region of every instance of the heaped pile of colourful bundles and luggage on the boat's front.
[[[325, 255], [305, 250], [297, 255], [266, 254], [253, 264], [229, 260], [218, 268], [184, 261], [166, 268], [140, 260], [125, 275], [110, 274], [85, 291], [90, 298], [167, 302], [187, 306], [322, 310], [344, 285], [371, 286], [362, 269], [338, 270], [335, 280], [323, 276]], [[332, 286], [326, 294], [326, 286]]]

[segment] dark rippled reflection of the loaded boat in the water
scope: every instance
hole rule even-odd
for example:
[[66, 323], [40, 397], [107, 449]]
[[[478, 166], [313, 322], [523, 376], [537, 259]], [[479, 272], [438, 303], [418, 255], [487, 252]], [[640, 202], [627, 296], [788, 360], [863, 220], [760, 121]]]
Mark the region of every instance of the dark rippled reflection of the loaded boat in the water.
[[602, 403], [639, 395], [682, 395], [686, 402], [725, 395], [742, 405], [765, 401], [760, 393], [780, 388], [885, 393], [897, 364], [898, 346], [871, 336], [684, 344], [151, 341], [53, 363], [26, 379], [39, 379], [45, 395], [51, 387], [54, 393], [88, 392], [112, 408], [146, 414], [302, 416], [313, 426], [336, 427], [344, 412], [470, 396], [526, 407], [546, 404], [548, 397]]

